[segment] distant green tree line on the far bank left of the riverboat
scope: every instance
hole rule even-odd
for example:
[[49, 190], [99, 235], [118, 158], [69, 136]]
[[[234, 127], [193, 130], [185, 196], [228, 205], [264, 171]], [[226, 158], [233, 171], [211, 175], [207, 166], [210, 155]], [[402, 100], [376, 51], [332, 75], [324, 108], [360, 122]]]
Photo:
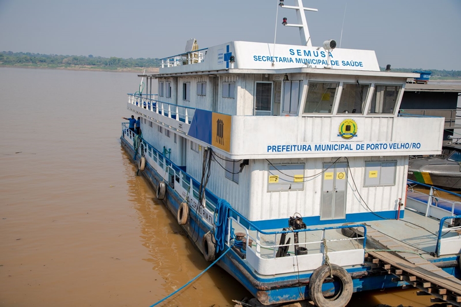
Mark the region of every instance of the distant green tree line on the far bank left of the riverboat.
[[160, 67], [158, 58], [123, 59], [118, 57], [104, 58], [100, 56], [39, 54], [30, 52], [0, 52], [0, 65], [23, 65], [44, 67], [67, 67], [72, 65], [102, 68], [149, 68]]

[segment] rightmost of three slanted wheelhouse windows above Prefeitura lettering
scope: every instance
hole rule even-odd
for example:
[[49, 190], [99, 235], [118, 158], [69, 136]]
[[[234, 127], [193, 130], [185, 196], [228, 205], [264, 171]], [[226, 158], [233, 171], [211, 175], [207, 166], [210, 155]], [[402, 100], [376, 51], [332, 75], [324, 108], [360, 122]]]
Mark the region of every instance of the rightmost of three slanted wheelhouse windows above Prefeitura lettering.
[[369, 114], [393, 114], [402, 85], [375, 85]]

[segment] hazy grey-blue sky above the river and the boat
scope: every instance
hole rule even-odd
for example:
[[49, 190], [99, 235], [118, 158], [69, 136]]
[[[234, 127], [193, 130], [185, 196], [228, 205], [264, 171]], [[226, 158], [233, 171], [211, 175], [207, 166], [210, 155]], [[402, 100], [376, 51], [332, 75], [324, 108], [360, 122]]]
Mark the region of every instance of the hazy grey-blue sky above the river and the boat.
[[[346, 8], [347, 3], [347, 8]], [[0, 0], [0, 51], [162, 58], [232, 40], [274, 42], [278, 0]], [[285, 5], [294, 0], [285, 0]], [[461, 0], [304, 0], [313, 46], [374, 50], [381, 67], [461, 70]], [[277, 43], [299, 45], [294, 10]]]

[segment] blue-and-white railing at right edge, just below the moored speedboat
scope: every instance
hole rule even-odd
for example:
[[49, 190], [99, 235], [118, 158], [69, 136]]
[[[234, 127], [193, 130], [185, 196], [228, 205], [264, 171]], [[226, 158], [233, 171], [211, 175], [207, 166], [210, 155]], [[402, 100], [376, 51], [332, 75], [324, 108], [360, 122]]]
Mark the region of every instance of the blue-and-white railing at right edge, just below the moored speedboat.
[[[461, 195], [452, 191], [447, 191], [424, 183], [408, 179], [407, 208], [423, 213], [425, 216], [432, 216], [441, 220], [447, 215], [461, 214]], [[429, 193], [416, 190], [415, 186], [429, 188]], [[456, 196], [458, 200], [448, 200], [443, 198], [438, 192], [444, 192]], [[451, 221], [449, 221], [451, 222]]]

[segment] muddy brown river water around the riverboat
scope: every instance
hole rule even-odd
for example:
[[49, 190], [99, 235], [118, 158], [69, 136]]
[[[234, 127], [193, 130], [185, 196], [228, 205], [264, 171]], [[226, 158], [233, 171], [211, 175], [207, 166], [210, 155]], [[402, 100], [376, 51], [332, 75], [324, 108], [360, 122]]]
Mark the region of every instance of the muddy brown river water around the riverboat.
[[[136, 73], [0, 68], [0, 306], [150, 306], [208, 266], [120, 147]], [[415, 290], [349, 306], [430, 305]], [[213, 267], [163, 306], [233, 306]]]

